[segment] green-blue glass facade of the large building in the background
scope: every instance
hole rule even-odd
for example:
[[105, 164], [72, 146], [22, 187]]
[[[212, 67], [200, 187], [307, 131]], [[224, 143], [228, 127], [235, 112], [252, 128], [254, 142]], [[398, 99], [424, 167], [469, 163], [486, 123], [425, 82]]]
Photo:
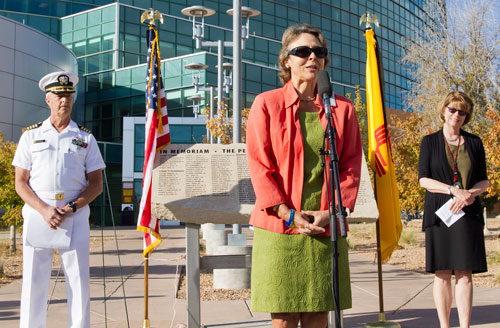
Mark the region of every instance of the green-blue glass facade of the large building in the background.
[[[356, 85], [365, 86], [366, 41], [360, 16], [369, 11], [378, 17], [375, 28], [382, 54], [386, 105], [403, 109], [402, 94], [407, 90], [408, 75], [401, 65], [403, 39], [411, 38], [428, 19], [423, 0], [243, 0], [242, 5], [259, 10], [250, 20], [250, 38], [242, 51], [243, 107], [250, 107], [255, 96], [281, 86], [277, 77], [278, 53], [283, 31], [303, 22], [317, 26], [324, 33], [330, 51], [328, 68], [333, 91], [354, 94]], [[82, 110], [77, 120], [91, 129], [106, 155], [111, 198], [121, 203], [120, 167], [123, 117], [144, 116], [145, 62], [147, 25], [140, 16], [149, 8], [163, 14], [159, 24], [162, 74], [169, 117], [193, 118], [193, 72], [184, 68], [200, 62], [209, 66], [200, 72], [202, 84], [217, 85], [217, 48], [195, 49], [192, 21], [181, 10], [192, 5], [212, 8], [216, 14], [205, 19], [205, 40], [232, 41], [232, 0], [0, 0], [0, 15], [22, 21], [58, 40], [78, 59], [78, 73], [84, 83]], [[232, 48], [224, 49], [224, 61], [232, 61]], [[209, 98], [205, 94], [205, 99]], [[80, 100], [82, 101], [82, 100]], [[229, 101], [230, 104], [230, 101]], [[205, 105], [202, 103], [202, 105]], [[231, 106], [229, 106], [231, 107]], [[140, 129], [140, 127], [138, 127]], [[172, 124], [173, 142], [200, 142], [205, 134], [203, 119], [196, 124]], [[140, 133], [135, 134], [137, 137]], [[123, 152], [128, 151], [123, 145]], [[141, 140], [131, 146], [141, 160]], [[136, 172], [141, 165], [135, 165]], [[109, 177], [108, 177], [109, 178]], [[116, 194], [117, 196], [113, 196]], [[102, 197], [101, 197], [102, 198]], [[104, 197], [105, 198], [105, 197]], [[105, 200], [101, 200], [104, 206]]]

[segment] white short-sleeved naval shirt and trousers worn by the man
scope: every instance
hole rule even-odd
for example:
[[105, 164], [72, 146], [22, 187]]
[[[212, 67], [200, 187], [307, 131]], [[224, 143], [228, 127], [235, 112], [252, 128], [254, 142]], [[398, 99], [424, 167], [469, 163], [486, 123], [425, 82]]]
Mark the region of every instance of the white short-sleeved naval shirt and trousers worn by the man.
[[[63, 207], [78, 197], [87, 186], [86, 173], [105, 167], [90, 131], [70, 121], [59, 133], [50, 123], [50, 118], [29, 127], [22, 134], [12, 165], [30, 171], [31, 189], [42, 201], [57, 207]], [[59, 199], [62, 194], [64, 198]], [[87, 205], [66, 218], [73, 219], [69, 248], [58, 249], [66, 281], [70, 314], [68, 327], [72, 328], [90, 326], [89, 214]], [[32, 237], [30, 241], [26, 237], [30, 223], [33, 227], [33, 222], [40, 217], [28, 204], [24, 205], [22, 328], [46, 326], [54, 248], [50, 245], [36, 247], [36, 238]]]

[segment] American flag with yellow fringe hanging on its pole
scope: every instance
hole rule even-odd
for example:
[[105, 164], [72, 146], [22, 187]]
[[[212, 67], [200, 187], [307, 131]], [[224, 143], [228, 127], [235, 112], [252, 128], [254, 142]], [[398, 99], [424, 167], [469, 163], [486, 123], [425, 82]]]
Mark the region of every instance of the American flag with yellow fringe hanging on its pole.
[[148, 30], [147, 67], [144, 175], [139, 219], [137, 220], [137, 230], [144, 232], [143, 257], [147, 257], [161, 242], [159, 220], [151, 214], [151, 184], [156, 154], [170, 143], [167, 104], [160, 70], [158, 33], [154, 25], [150, 25]]

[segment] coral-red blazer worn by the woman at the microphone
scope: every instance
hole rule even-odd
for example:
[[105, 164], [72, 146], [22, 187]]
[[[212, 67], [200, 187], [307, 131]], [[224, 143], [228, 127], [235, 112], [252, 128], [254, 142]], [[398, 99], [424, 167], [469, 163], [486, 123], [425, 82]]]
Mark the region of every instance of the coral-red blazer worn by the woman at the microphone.
[[[337, 129], [340, 189], [343, 205], [352, 212], [361, 175], [361, 135], [352, 103], [335, 95], [333, 124]], [[283, 88], [264, 92], [253, 102], [247, 123], [246, 143], [250, 178], [256, 195], [250, 224], [278, 233], [298, 233], [288, 228], [272, 210], [277, 204], [300, 211], [304, 184], [304, 145], [298, 108], [299, 96], [289, 81]], [[326, 116], [323, 102], [316, 97], [323, 129]], [[328, 148], [328, 147], [327, 147]], [[328, 170], [327, 170], [328, 171]], [[326, 183], [323, 183], [320, 210], [328, 209]], [[325, 227], [323, 235], [330, 235]]]

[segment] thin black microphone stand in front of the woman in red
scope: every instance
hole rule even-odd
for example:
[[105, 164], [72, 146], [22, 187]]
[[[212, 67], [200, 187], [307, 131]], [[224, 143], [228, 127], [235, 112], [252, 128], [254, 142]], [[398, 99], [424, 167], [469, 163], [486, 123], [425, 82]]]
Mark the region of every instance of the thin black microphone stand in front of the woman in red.
[[[335, 97], [335, 96], [334, 96]], [[335, 99], [335, 98], [333, 98]], [[334, 100], [335, 101], [335, 100]], [[337, 240], [337, 212], [340, 222], [340, 235], [345, 238], [347, 236], [346, 229], [346, 212], [342, 205], [342, 194], [340, 191], [339, 167], [338, 167], [338, 154], [335, 145], [335, 135], [337, 130], [332, 124], [332, 112], [330, 107], [330, 97], [323, 94], [323, 104], [327, 118], [326, 131], [323, 137], [323, 148], [319, 149], [321, 156], [321, 166], [325, 172], [325, 181], [327, 181], [327, 196], [328, 196], [328, 214], [330, 216], [330, 236], [332, 241], [332, 289], [333, 300], [335, 305], [335, 327], [342, 328], [342, 321], [340, 318], [340, 292], [339, 292], [339, 254], [338, 254], [338, 240]], [[335, 106], [335, 104], [334, 104]], [[328, 140], [329, 151], [325, 150], [325, 143]], [[330, 156], [328, 156], [330, 155]], [[327, 156], [328, 171], [330, 173], [330, 183], [328, 183], [328, 175], [325, 169]], [[335, 210], [335, 196], [334, 191], [337, 192], [337, 210]]]

